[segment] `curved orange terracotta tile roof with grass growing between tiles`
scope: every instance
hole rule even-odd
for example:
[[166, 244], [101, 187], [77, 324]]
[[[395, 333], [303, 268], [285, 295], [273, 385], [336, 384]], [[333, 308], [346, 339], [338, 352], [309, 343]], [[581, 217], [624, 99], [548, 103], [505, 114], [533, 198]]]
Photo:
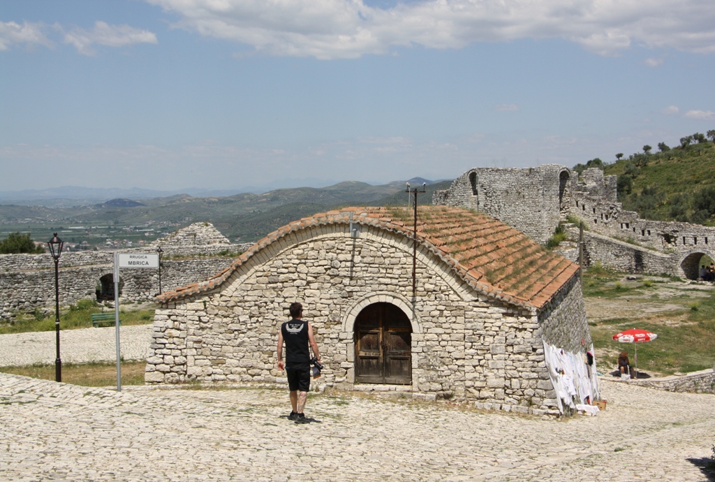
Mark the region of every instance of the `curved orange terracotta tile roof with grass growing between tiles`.
[[[413, 236], [413, 211], [405, 207], [346, 207], [291, 222], [256, 242], [230, 267], [209, 279], [159, 295], [167, 303], [222, 285], [237, 268], [273, 242], [320, 225], [369, 225]], [[541, 308], [578, 271], [578, 265], [546, 250], [523, 232], [461, 207], [418, 208], [417, 239], [478, 292], [525, 307]]]

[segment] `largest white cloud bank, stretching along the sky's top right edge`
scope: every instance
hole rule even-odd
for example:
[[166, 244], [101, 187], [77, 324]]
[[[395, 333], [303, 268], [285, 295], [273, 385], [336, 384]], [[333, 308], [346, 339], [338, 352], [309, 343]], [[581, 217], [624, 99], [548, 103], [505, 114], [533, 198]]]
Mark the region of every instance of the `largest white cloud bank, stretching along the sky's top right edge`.
[[363, 0], [146, 0], [177, 26], [265, 54], [355, 58], [420, 44], [561, 37], [599, 55], [632, 44], [715, 53], [711, 0], [425, 0], [391, 9]]

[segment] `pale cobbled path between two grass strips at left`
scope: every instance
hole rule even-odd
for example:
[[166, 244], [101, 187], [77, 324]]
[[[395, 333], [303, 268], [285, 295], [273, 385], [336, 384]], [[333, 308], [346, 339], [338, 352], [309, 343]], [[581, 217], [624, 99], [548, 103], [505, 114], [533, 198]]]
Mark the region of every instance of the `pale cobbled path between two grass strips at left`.
[[[146, 360], [152, 343], [153, 325], [119, 328], [119, 343], [124, 360]], [[0, 335], [0, 366], [54, 363], [54, 331]], [[116, 361], [114, 327], [62, 330], [59, 338], [62, 363]]]

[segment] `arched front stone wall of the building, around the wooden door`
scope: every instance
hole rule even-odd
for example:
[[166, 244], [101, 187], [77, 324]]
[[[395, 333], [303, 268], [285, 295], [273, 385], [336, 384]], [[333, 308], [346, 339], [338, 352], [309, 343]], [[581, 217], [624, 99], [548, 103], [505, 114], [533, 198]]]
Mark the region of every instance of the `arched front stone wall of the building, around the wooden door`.
[[284, 381], [276, 368], [277, 335], [297, 300], [326, 365], [320, 383], [350, 387], [355, 318], [371, 303], [385, 302], [412, 320], [413, 390], [475, 400], [484, 408], [556, 410], [536, 312], [475, 292], [421, 246], [413, 311], [411, 254], [407, 237], [374, 227], [363, 227], [354, 244], [343, 225], [280, 238], [221, 287], [157, 310], [145, 379]]

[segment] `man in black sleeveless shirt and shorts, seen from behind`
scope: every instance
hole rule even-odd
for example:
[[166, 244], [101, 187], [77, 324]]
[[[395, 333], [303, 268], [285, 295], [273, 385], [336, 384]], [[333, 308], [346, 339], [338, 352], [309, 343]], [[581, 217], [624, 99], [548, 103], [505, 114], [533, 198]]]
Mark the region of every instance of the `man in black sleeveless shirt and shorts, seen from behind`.
[[[288, 420], [295, 423], [308, 423], [303, 408], [310, 390], [310, 353], [308, 343], [315, 358], [320, 362], [320, 352], [312, 334], [310, 323], [303, 321], [303, 307], [300, 303], [292, 303], [289, 308], [291, 319], [280, 326], [278, 333], [278, 370], [285, 368], [290, 388], [290, 405], [292, 411]], [[285, 341], [285, 363], [283, 363], [283, 342]]]

